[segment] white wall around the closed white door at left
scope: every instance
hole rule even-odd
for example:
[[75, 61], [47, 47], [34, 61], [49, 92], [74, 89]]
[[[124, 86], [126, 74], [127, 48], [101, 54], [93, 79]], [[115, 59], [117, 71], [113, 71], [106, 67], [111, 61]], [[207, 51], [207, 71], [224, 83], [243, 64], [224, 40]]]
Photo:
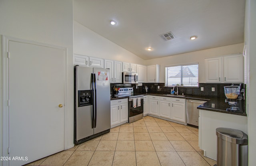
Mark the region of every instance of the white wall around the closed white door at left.
[[[0, 0], [0, 22], [0, 35], [66, 47], [67, 79], [73, 80], [73, 0]], [[2, 59], [2, 51], [0, 58]], [[2, 75], [0, 80], [2, 80]], [[2, 90], [2, 81], [0, 87]], [[65, 127], [68, 131], [66, 146], [69, 147], [72, 147], [74, 141], [73, 89], [73, 81], [68, 81], [67, 102], [65, 103], [68, 121], [66, 121]], [[2, 122], [1, 116], [2, 107], [0, 111]], [[0, 128], [2, 129], [2, 123], [0, 123]], [[2, 154], [2, 132], [0, 141], [0, 154]]]

